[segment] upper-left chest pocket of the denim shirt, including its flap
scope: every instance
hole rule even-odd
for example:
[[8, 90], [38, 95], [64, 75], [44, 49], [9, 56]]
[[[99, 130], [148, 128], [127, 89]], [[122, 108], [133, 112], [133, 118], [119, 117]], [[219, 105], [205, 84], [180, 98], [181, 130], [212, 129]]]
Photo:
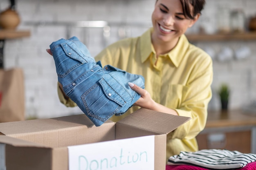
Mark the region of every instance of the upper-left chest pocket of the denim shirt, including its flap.
[[55, 64], [58, 64], [56, 65], [58, 77], [63, 78], [75, 68], [87, 63], [87, 61], [82, 57], [82, 54], [75, 51], [67, 43], [61, 43], [61, 47], [63, 53], [56, 57]]

